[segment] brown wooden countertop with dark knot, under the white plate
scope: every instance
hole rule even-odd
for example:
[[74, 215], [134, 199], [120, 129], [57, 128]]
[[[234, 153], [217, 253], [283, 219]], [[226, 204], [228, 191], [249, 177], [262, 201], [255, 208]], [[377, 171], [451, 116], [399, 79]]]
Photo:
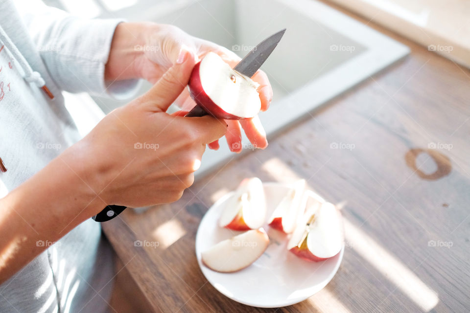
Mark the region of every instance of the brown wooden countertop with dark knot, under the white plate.
[[[126, 210], [103, 224], [152, 311], [470, 312], [470, 71], [369, 25], [410, 46], [411, 55], [270, 138], [266, 150], [198, 181], [180, 201]], [[202, 216], [249, 176], [305, 178], [342, 207], [341, 267], [299, 304], [239, 304], [197, 265]], [[160, 246], [136, 248], [136, 240]]]

